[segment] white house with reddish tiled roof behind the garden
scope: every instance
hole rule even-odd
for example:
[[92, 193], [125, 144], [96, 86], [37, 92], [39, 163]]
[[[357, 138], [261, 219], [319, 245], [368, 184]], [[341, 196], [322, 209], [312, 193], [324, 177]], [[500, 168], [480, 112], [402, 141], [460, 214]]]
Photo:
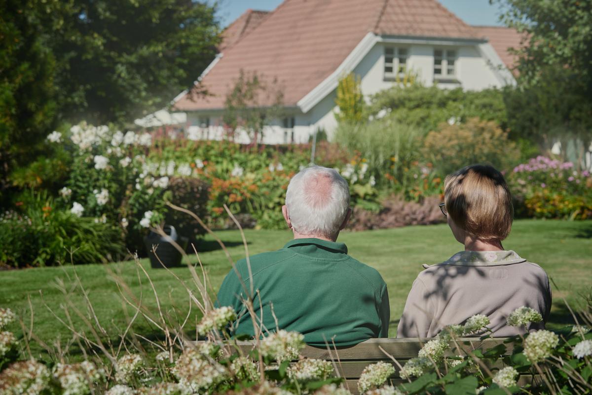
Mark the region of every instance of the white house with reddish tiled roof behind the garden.
[[[274, 11], [245, 12], [224, 33], [220, 53], [192, 91], [175, 98], [194, 139], [223, 139], [227, 93], [240, 70], [276, 79], [285, 117], [264, 130], [261, 142], [308, 142], [316, 130], [331, 138], [341, 76], [361, 77], [375, 94], [413, 72], [425, 85], [485, 89], [515, 84], [510, 72], [516, 31], [474, 27], [436, 0], [285, 0]], [[196, 94], [205, 89], [208, 95]], [[250, 143], [247, 133], [235, 140]]]

